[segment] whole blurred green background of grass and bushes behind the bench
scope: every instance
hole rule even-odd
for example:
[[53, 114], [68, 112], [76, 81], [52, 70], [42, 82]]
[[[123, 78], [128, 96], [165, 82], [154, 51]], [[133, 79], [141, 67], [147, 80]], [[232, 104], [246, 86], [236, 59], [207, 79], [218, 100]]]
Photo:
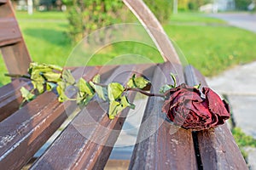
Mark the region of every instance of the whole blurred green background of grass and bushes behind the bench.
[[[26, 10], [16, 10], [17, 20], [33, 61], [63, 66], [77, 42], [91, 31], [114, 23], [138, 23], [131, 12], [119, 1], [109, 1], [110, 3], [106, 1], [106, 4], [111, 5], [109, 7], [106, 5], [102, 12], [106, 15], [103, 16], [102, 8], [91, 6], [92, 3], [83, 3], [84, 8], [81, 8], [79, 4], [83, 1], [76, 2], [62, 2], [62, 5], [67, 4], [65, 11], [61, 11], [57, 6], [47, 7], [46, 5], [44, 8], [41, 8], [42, 5], [35, 6], [33, 14], [27, 14]], [[99, 0], [87, 2], [101, 3]], [[234, 65], [245, 64], [256, 59], [256, 54], [252, 53], [252, 49], [256, 48], [254, 33], [229, 26], [224, 20], [211, 18], [207, 14], [198, 12], [190, 7], [193, 1], [179, 2], [177, 14], [172, 13], [172, 1], [166, 1], [166, 4], [152, 2], [148, 1], [150, 8], [160, 18], [167, 35], [177, 43], [177, 47], [183, 52], [189, 64], [194, 65], [205, 76], [212, 77]], [[19, 3], [13, 3], [17, 8]], [[203, 2], [196, 4], [198, 6]], [[160, 10], [160, 5], [167, 8]], [[41, 8], [40, 10], [43, 11], [38, 11], [36, 8]], [[93, 8], [93, 13], [88, 13], [90, 8]], [[90, 15], [94, 18], [88, 19]], [[95, 25], [95, 23], [98, 24]], [[109, 59], [127, 53], [141, 54], [154, 62], [163, 61], [157, 50], [148, 48], [145, 44], [118, 42], [102, 48], [96, 54], [99, 57], [90, 60], [89, 64], [102, 65]], [[0, 85], [9, 82], [9, 77], [3, 76], [6, 72], [2, 59]]]

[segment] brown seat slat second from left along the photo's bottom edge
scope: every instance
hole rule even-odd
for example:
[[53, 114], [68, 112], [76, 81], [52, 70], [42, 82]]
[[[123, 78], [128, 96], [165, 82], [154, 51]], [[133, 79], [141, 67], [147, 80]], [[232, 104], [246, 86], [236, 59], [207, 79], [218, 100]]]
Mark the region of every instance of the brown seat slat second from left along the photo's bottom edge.
[[[106, 83], [127, 82], [131, 71], [132, 65], [121, 65]], [[108, 103], [91, 101], [32, 169], [102, 169], [119, 136], [128, 109], [113, 120], [109, 120], [107, 111]]]

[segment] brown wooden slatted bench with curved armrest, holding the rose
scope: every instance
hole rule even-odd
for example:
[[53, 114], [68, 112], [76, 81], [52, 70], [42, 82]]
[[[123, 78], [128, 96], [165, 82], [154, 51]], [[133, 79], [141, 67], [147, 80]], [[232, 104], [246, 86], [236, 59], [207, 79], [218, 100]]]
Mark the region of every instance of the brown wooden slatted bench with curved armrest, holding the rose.
[[[124, 0], [124, 3], [142, 22], [165, 63], [77, 67], [72, 70], [73, 76], [78, 79], [84, 72], [83, 77], [89, 81], [100, 73], [102, 82], [125, 83], [137, 72], [148, 77], [152, 82], [150, 90], [154, 92], [165, 81], [172, 82], [171, 77], [166, 80], [170, 72], [177, 72], [177, 83], [193, 86], [201, 82], [207, 86], [205, 78], [193, 66], [180, 64], [172, 42], [147, 6], [141, 0]], [[9, 73], [26, 73], [31, 59], [9, 0], [0, 0], [0, 48]], [[24, 167], [70, 113], [78, 109], [74, 102], [58, 102], [52, 92], [39, 95], [19, 109], [23, 86], [31, 88], [32, 83], [15, 79], [0, 88], [1, 169]], [[134, 99], [134, 96], [131, 93], [129, 97]], [[166, 115], [161, 112], [163, 102], [157, 97], [148, 98], [129, 169], [247, 169], [226, 124], [200, 132], [177, 128], [165, 120]], [[108, 119], [106, 111], [104, 103], [90, 101], [48, 150], [36, 158], [31, 169], [103, 169], [129, 110], [125, 109], [114, 120]]]

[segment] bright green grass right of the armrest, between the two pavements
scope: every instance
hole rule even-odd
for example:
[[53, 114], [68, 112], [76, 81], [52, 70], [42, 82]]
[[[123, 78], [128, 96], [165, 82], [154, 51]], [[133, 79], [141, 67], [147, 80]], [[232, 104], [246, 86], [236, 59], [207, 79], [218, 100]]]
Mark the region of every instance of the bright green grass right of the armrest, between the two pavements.
[[211, 77], [256, 60], [256, 34], [231, 26], [165, 26], [189, 64]]

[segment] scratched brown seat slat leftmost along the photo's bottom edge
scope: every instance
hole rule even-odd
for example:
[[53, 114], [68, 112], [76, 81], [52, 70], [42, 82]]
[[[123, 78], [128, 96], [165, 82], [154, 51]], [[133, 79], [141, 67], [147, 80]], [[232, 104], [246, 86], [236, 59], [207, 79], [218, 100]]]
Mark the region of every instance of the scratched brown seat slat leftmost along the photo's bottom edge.
[[[98, 69], [91, 67], [86, 72], [85, 78], [90, 80]], [[81, 71], [74, 74], [81, 75]], [[54, 93], [47, 92], [0, 122], [0, 167], [20, 169], [76, 107], [75, 102], [62, 104]]]

